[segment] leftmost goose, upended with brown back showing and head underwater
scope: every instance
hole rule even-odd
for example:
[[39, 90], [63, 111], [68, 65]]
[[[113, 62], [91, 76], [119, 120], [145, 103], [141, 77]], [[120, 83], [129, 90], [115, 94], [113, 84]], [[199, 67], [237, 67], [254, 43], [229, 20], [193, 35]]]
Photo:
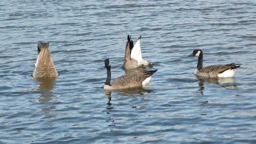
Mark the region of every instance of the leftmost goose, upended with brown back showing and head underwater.
[[58, 72], [55, 69], [53, 61], [51, 59], [49, 44], [50, 44], [49, 42], [37, 43], [38, 56], [35, 63], [36, 68], [33, 73], [34, 78], [54, 79], [58, 77]]

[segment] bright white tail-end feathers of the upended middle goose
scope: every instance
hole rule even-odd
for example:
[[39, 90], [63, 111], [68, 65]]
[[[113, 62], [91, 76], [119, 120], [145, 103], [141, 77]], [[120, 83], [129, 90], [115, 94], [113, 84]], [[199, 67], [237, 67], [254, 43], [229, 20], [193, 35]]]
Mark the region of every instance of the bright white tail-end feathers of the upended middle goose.
[[131, 51], [131, 59], [137, 60], [138, 63], [143, 61], [140, 49], [140, 38], [141, 36], [138, 38], [138, 41], [135, 43]]

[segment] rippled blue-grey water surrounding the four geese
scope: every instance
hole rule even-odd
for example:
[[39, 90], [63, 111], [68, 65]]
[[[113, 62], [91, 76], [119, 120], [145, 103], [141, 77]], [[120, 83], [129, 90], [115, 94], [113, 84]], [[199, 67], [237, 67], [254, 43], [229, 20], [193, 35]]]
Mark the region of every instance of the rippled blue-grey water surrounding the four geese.
[[[254, 1], [1, 1], [0, 143], [255, 143]], [[136, 91], [102, 89], [104, 60], [121, 76], [127, 34], [158, 69]], [[37, 42], [60, 76], [31, 77]], [[243, 63], [235, 78], [197, 79]]]

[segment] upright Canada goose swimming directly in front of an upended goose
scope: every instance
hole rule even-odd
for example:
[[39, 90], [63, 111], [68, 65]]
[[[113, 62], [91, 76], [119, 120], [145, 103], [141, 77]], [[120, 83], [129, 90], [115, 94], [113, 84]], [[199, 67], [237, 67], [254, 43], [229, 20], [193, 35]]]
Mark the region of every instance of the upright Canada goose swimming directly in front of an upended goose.
[[103, 87], [104, 90], [123, 90], [130, 89], [135, 87], [142, 87], [147, 85], [151, 79], [151, 76], [156, 73], [156, 70], [150, 70], [143, 73], [124, 75], [117, 77], [115, 81], [110, 84], [111, 72], [110, 72], [110, 61], [109, 59], [105, 60], [105, 68], [107, 69], [107, 79]]

